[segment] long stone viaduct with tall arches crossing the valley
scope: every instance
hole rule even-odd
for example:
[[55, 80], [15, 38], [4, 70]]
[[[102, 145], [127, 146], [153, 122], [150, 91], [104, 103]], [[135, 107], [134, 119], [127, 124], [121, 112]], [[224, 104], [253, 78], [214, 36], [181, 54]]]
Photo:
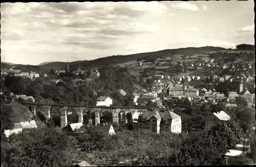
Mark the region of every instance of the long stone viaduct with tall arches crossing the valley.
[[88, 107], [88, 106], [71, 106], [71, 105], [57, 105], [57, 104], [35, 104], [35, 103], [22, 103], [27, 109], [31, 107], [31, 112], [36, 115], [38, 107], [44, 106], [45, 111], [48, 113], [48, 119], [50, 118], [50, 113], [53, 108], [58, 108], [60, 110], [60, 127], [65, 127], [68, 125], [68, 116], [67, 112], [69, 109], [74, 108], [78, 115], [78, 122], [83, 122], [83, 112], [91, 110], [95, 114], [95, 126], [100, 123], [100, 112], [108, 111], [112, 113], [113, 123], [118, 123], [118, 114], [121, 112], [133, 114], [134, 112], [146, 112], [149, 109], [147, 108], [127, 108], [127, 107]]

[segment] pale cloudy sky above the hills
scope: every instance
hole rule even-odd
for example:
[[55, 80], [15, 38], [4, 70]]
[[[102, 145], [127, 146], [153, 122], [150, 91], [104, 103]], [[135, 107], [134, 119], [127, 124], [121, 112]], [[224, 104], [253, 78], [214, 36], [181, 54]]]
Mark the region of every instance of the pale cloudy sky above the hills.
[[253, 1], [1, 3], [2, 62], [254, 45]]

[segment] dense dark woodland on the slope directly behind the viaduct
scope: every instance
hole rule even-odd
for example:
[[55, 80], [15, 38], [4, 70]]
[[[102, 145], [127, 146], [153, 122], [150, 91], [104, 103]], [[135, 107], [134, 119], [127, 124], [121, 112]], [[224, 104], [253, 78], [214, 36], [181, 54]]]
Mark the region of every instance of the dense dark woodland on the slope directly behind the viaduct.
[[[96, 105], [99, 96], [109, 96], [113, 99], [113, 105], [133, 106], [131, 94], [137, 79], [127, 68], [103, 66], [100, 74], [99, 78], [89, 83], [82, 80], [74, 83], [72, 79], [76, 79], [77, 76], [71, 73], [61, 74], [59, 79], [62, 82], [57, 84], [44, 78], [32, 81], [29, 78], [6, 76], [2, 88], [4, 92], [33, 96], [36, 102]], [[123, 89], [126, 96], [123, 97], [119, 89]]]

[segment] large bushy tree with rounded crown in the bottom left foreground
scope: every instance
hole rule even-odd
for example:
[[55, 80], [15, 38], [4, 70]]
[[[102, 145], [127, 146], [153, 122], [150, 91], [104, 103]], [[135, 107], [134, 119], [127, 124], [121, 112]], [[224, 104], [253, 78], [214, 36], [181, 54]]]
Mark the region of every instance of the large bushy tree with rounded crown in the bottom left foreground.
[[76, 140], [57, 129], [30, 129], [10, 136], [9, 166], [70, 166]]

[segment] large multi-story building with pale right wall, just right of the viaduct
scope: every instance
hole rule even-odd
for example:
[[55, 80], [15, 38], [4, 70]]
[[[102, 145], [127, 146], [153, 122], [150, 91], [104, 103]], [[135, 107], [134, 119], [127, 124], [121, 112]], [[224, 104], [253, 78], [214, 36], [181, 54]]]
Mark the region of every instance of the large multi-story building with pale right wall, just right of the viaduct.
[[145, 112], [138, 117], [138, 129], [152, 130], [155, 133], [181, 133], [181, 117], [174, 112]]

